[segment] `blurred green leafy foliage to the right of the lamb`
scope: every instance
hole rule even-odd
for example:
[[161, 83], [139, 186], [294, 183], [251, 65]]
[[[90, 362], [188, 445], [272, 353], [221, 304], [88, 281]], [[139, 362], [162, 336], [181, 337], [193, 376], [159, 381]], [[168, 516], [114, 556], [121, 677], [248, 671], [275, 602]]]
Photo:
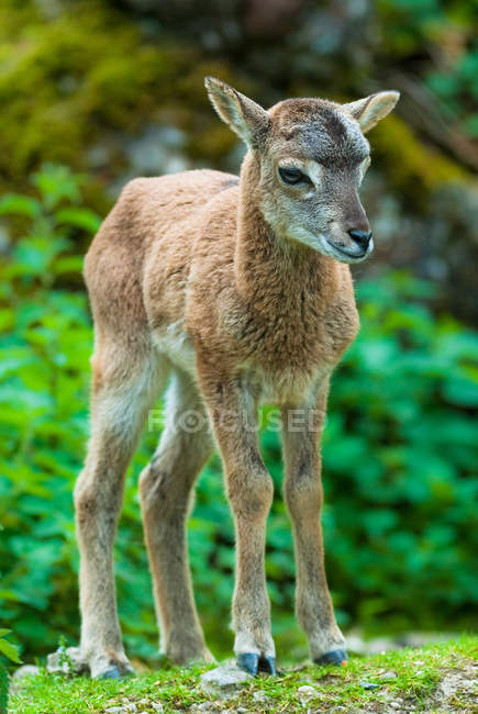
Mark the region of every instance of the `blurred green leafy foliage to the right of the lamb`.
[[362, 283], [360, 336], [333, 380], [326, 547], [354, 621], [449, 623], [477, 600], [478, 335], [433, 315], [430, 291], [407, 275]]

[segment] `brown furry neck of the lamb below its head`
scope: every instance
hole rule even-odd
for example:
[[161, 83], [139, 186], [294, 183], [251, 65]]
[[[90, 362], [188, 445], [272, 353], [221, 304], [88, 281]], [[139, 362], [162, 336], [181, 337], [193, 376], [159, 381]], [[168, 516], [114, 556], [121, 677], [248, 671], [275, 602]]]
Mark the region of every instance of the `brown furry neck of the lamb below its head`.
[[241, 168], [235, 279], [243, 300], [264, 316], [294, 316], [307, 305], [326, 308], [336, 289], [335, 261], [277, 236], [260, 209], [258, 161], [247, 154]]

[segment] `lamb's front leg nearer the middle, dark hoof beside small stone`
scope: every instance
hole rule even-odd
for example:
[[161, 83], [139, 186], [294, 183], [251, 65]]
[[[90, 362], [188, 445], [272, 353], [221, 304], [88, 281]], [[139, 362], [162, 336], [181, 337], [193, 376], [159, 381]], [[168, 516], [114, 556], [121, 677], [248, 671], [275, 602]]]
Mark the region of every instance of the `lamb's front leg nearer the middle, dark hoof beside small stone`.
[[264, 568], [266, 520], [274, 487], [259, 453], [256, 404], [246, 384], [204, 368], [201, 388], [221, 450], [235, 522], [232, 626], [237, 665], [254, 674], [258, 669], [274, 674], [275, 646]]

